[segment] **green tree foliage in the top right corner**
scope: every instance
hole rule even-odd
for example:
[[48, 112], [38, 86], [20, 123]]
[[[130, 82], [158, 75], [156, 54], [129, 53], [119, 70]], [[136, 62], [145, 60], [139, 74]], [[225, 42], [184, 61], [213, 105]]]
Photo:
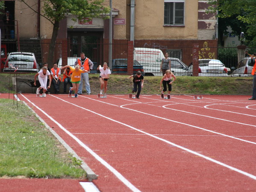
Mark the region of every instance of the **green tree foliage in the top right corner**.
[[[256, 43], [256, 4], [255, 0], [209, 0], [210, 12], [217, 12], [221, 21], [229, 24], [236, 35], [245, 33], [245, 43], [249, 46]], [[228, 26], [228, 25], [226, 25]]]

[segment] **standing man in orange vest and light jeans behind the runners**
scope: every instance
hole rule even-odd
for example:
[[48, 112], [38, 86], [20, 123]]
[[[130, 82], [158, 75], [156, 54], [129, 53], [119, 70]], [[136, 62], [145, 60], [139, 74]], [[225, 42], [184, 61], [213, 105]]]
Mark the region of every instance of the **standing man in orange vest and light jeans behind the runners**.
[[82, 94], [82, 80], [85, 80], [85, 90], [88, 95], [91, 94], [90, 84], [89, 84], [89, 72], [93, 69], [93, 62], [85, 57], [85, 54], [83, 52], [80, 53], [80, 58], [77, 59], [77, 61], [74, 63], [75, 66], [79, 65], [81, 70], [87, 70], [88, 73], [82, 73], [81, 74], [81, 80], [78, 88], [78, 94]]

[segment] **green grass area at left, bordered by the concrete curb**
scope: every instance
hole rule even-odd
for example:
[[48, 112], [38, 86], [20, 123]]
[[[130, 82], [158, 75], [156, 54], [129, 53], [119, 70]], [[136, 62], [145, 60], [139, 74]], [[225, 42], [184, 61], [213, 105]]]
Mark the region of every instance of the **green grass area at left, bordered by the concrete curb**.
[[0, 99], [0, 177], [85, 178], [72, 157], [32, 111]]

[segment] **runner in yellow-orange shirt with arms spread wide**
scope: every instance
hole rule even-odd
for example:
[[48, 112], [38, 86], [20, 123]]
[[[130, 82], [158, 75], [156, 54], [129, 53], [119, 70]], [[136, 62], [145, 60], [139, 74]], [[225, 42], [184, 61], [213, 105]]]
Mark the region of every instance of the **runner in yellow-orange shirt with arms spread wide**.
[[72, 76], [71, 76], [71, 81], [70, 81], [72, 83], [73, 87], [69, 88], [69, 94], [72, 94], [72, 90], [75, 90], [75, 97], [78, 97], [77, 91], [78, 91], [78, 87], [79, 87], [80, 80], [81, 80], [81, 73], [88, 73], [88, 71], [80, 70], [79, 65], [76, 65], [75, 68], [73, 68], [69, 65], [66, 65], [66, 66], [62, 67], [62, 69], [65, 69], [67, 67], [70, 68], [70, 70], [73, 72]]

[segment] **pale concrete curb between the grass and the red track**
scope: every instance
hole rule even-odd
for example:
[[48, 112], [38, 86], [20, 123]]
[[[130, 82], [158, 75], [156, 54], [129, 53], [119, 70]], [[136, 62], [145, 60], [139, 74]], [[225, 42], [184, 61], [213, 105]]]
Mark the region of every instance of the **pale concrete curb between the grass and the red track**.
[[[35, 111], [32, 110], [32, 108], [30, 108], [30, 107], [26, 104], [26, 102], [23, 101], [23, 103], [24, 103], [33, 113], [35, 113]], [[53, 131], [53, 129], [50, 128], [50, 126], [47, 125], [47, 123], [44, 122], [44, 120], [41, 119], [40, 116], [38, 116], [38, 114], [35, 113], [35, 116], [45, 125], [45, 127], [46, 127], [47, 129], [50, 130], [50, 132], [57, 138], [57, 140], [59, 140], [59, 142], [68, 150], [68, 152], [70, 152], [70, 153], [73, 155], [73, 157], [76, 157], [78, 160], [80, 160], [80, 161], [82, 162], [81, 167], [82, 167], [82, 169], [85, 170], [85, 172], [86, 172], [86, 177], [87, 177], [88, 181], [91, 182], [92, 180], [97, 179], [98, 175], [96, 175], [96, 174], [91, 170], [91, 168], [76, 154], [76, 152], [75, 152], [61, 137], [59, 137], [59, 135], [58, 135], [55, 131]]]

